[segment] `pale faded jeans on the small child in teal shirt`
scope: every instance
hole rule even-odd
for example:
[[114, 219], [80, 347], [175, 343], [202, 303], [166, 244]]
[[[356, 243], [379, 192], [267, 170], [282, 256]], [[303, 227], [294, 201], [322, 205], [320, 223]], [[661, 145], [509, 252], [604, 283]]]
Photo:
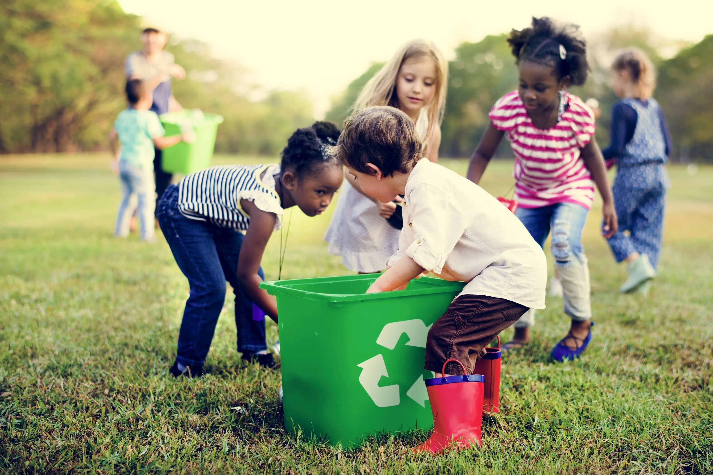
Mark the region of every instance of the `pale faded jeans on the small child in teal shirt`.
[[141, 239], [153, 239], [153, 172], [148, 168], [130, 165], [125, 160], [119, 160], [119, 179], [123, 198], [119, 204], [116, 216], [114, 235], [125, 237], [129, 234], [129, 219], [133, 214], [131, 197], [138, 197], [139, 223], [141, 226]]

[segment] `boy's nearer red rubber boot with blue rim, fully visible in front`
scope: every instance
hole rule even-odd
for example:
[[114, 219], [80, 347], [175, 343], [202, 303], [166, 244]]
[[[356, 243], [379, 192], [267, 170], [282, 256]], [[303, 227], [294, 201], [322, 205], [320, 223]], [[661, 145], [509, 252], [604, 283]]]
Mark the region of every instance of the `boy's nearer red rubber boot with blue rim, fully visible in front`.
[[[451, 361], [463, 366], [458, 360], [447, 360], [441, 374], [445, 374], [446, 364]], [[465, 367], [463, 373], [466, 373]], [[414, 453], [430, 451], [440, 454], [451, 444], [458, 449], [473, 443], [481, 447], [483, 379], [482, 375], [457, 375], [426, 380], [434, 414], [434, 432], [426, 442], [414, 448]]]

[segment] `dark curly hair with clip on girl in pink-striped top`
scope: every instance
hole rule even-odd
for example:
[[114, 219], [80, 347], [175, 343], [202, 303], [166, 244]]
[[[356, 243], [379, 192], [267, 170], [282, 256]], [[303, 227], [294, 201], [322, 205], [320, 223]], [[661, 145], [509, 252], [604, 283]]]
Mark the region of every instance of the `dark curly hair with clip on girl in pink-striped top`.
[[[533, 17], [532, 26], [510, 32], [508, 44], [516, 64], [530, 61], [551, 66], [558, 79], [569, 76], [572, 85], [583, 85], [587, 80], [587, 42], [577, 25], [558, 25], [547, 16]], [[565, 59], [560, 57], [560, 45], [567, 52]]]

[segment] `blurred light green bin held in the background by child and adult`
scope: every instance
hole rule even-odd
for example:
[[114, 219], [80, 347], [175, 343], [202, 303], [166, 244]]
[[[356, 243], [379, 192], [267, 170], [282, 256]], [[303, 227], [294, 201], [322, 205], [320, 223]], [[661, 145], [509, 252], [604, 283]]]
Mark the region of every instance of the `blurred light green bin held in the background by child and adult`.
[[180, 142], [163, 150], [161, 167], [164, 172], [189, 174], [210, 167], [215, 135], [218, 125], [223, 121], [222, 115], [183, 110], [162, 114], [160, 120], [166, 135], [178, 135], [188, 127], [193, 127], [195, 132], [193, 143]]

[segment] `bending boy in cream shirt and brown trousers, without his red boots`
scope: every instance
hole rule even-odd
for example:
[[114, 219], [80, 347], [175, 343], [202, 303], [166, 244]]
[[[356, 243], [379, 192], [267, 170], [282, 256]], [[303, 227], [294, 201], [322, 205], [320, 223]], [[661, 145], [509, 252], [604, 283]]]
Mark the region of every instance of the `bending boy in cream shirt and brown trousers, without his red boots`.
[[[426, 370], [455, 358], [473, 371], [488, 343], [528, 308], [545, 308], [547, 263], [525, 226], [488, 192], [423, 160], [414, 122], [396, 108], [362, 110], [344, 123], [333, 152], [354, 184], [381, 202], [404, 198], [404, 229], [389, 268], [367, 293], [400, 290], [432, 272], [466, 282], [429, 330]], [[456, 362], [446, 375], [462, 375]]]

